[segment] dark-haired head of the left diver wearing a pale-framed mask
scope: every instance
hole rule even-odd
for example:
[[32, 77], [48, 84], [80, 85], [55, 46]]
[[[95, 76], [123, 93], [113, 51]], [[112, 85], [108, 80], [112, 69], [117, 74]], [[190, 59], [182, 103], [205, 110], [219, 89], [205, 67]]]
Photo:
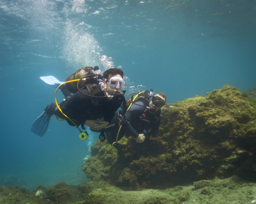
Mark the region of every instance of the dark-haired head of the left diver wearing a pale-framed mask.
[[121, 94], [122, 87], [126, 85], [123, 80], [124, 72], [121, 69], [111, 68], [103, 73], [105, 80], [103, 81], [106, 91], [110, 96]]

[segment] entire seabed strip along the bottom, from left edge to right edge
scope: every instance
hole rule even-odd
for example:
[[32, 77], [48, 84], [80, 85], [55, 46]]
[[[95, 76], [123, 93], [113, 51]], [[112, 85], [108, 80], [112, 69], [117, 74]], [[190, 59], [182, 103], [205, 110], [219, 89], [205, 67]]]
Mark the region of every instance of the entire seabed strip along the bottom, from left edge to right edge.
[[[38, 186], [38, 188], [44, 187]], [[164, 190], [140, 188], [138, 191], [127, 191], [127, 189], [124, 191], [104, 181], [89, 181], [81, 186], [68, 186], [61, 182], [44, 188], [44, 191], [54, 192], [52, 200], [49, 197], [45, 199], [36, 197], [37, 191], [28, 192], [25, 188], [18, 189], [17, 186], [0, 186], [0, 202], [4, 204], [253, 204], [256, 200], [256, 184], [248, 183], [237, 176], [228, 179], [215, 177], [213, 180], [195, 182], [194, 185], [175, 186]]]

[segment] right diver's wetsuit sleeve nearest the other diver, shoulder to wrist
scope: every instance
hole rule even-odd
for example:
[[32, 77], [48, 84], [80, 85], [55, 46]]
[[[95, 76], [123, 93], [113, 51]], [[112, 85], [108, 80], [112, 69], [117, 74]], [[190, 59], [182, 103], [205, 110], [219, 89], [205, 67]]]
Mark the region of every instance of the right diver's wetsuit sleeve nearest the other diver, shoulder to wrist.
[[[139, 105], [143, 105], [143, 103], [136, 102]], [[136, 104], [135, 103], [135, 104]], [[132, 104], [131, 108], [129, 108], [126, 112], [126, 119], [124, 121], [124, 118], [121, 120], [121, 124], [127, 129], [127, 131], [134, 137], [137, 138], [139, 136], [139, 133], [132, 127], [131, 120], [134, 119], [134, 117], [141, 115], [144, 111], [144, 108], [142, 106], [137, 106], [135, 104]], [[139, 116], [138, 116], [139, 117]]]

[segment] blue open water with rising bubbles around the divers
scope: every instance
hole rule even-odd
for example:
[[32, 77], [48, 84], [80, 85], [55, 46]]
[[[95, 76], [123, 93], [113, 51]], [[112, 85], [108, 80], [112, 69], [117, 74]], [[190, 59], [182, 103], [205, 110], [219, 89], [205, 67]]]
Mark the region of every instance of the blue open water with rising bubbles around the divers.
[[80, 165], [98, 134], [82, 141], [54, 117], [44, 137], [30, 132], [54, 101], [39, 77], [121, 66], [128, 92], [152, 88], [168, 103], [226, 84], [246, 91], [256, 86], [255, 19], [253, 0], [0, 0], [0, 185], [89, 180]]

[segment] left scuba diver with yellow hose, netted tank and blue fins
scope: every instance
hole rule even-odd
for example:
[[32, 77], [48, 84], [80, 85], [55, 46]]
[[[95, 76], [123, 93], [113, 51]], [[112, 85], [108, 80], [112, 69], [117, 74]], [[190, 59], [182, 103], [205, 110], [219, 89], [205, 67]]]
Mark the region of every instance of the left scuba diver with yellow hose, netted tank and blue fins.
[[[69, 76], [66, 82], [60, 82], [52, 76], [40, 77], [44, 82], [53, 87], [60, 88], [65, 99], [58, 105], [56, 101], [48, 105], [34, 122], [31, 131], [39, 136], [46, 132], [50, 118], [54, 114], [58, 120], [67, 120], [71, 126], [78, 128], [81, 125], [99, 130], [108, 126], [115, 116], [117, 109], [122, 105], [126, 107], [124, 98], [126, 82], [121, 69], [111, 68], [100, 75], [99, 67], [85, 67]], [[71, 93], [74, 93], [71, 95]], [[98, 119], [103, 120], [98, 121]], [[80, 139], [85, 140], [88, 133], [80, 131]]]

